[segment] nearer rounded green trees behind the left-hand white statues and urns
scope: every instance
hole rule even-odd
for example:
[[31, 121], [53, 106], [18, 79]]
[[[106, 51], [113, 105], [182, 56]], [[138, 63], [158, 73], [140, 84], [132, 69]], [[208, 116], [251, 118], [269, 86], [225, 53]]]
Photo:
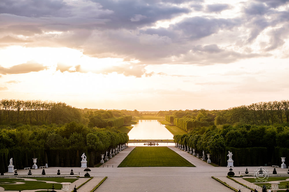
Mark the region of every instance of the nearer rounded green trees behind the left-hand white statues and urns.
[[100, 162], [100, 154], [128, 142], [125, 133], [107, 129], [89, 128], [82, 123], [70, 122], [63, 126], [22, 125], [0, 127], [0, 172], [7, 171], [10, 158], [16, 169], [31, 167], [32, 158], [38, 166], [80, 166], [82, 153], [88, 165]]

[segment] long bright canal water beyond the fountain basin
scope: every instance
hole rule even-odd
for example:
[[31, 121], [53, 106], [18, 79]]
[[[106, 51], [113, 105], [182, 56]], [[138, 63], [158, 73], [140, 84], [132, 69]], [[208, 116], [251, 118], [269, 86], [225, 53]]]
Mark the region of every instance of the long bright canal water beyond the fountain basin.
[[[173, 139], [169, 132], [158, 120], [139, 120], [128, 133], [129, 139], [139, 140], [162, 140]], [[143, 144], [142, 144], [143, 145]]]

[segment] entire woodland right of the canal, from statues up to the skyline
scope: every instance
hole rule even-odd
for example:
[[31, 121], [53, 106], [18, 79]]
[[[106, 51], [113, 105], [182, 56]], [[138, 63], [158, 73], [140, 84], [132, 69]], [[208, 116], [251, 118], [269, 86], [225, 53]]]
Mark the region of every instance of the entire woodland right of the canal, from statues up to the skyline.
[[[189, 110], [169, 111], [165, 117], [188, 131], [184, 135], [175, 135], [176, 143], [196, 149], [200, 156], [203, 151], [212, 154], [210, 159], [218, 165], [227, 165], [228, 151], [234, 154], [234, 166], [280, 165], [280, 157], [289, 157], [288, 107], [289, 101], [283, 100], [219, 111], [195, 110], [195, 114]], [[211, 119], [214, 124], [207, 118], [197, 118], [201, 113], [204, 117], [214, 114]], [[209, 124], [194, 126], [192, 123], [196, 119]]]

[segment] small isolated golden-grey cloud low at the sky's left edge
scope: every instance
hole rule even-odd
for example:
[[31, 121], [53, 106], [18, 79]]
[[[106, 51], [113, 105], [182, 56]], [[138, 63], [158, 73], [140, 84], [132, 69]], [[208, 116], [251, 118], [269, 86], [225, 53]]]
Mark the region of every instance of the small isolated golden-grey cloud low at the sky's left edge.
[[0, 66], [0, 74], [7, 75], [7, 74], [22, 74], [22, 73], [30, 73], [30, 72], [38, 72], [48, 69], [47, 66], [43, 66], [42, 64], [35, 63], [35, 62], [27, 62], [19, 65], [14, 65], [10, 68], [5, 68]]

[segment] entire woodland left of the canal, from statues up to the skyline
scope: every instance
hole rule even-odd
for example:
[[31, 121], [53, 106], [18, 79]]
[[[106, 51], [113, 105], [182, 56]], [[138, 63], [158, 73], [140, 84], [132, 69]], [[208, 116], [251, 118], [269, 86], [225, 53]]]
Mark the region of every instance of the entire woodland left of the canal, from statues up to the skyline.
[[100, 154], [128, 142], [118, 128], [131, 121], [133, 111], [77, 109], [65, 103], [39, 100], [0, 100], [0, 172], [10, 158], [16, 169], [38, 166], [80, 166], [85, 153], [88, 166]]

